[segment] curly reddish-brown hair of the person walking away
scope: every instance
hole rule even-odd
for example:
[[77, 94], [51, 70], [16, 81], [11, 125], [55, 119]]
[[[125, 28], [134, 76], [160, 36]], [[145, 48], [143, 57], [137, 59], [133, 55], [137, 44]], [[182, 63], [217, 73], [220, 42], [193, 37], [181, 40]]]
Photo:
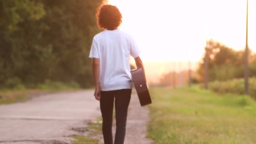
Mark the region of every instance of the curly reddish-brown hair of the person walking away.
[[101, 5], [96, 13], [100, 29], [114, 30], [122, 23], [122, 14], [115, 5]]

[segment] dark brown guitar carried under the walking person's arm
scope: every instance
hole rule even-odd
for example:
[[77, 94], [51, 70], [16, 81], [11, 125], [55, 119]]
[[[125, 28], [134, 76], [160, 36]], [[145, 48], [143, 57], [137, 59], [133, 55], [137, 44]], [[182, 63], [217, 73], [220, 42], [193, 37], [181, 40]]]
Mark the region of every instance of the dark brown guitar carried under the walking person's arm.
[[141, 68], [133, 69], [131, 71], [131, 76], [132, 76], [133, 84], [137, 91], [141, 106], [151, 104], [152, 101], [149, 95], [149, 90], [147, 88], [146, 80], [144, 79], [144, 74], [142, 69]]

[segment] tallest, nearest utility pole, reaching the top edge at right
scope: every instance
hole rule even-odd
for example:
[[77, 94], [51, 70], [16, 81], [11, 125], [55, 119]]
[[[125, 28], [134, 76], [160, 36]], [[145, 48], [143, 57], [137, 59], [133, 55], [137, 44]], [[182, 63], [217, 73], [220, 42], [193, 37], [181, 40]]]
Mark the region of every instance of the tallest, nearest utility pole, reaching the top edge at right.
[[249, 77], [249, 67], [248, 67], [248, 0], [246, 6], [246, 44], [245, 44], [245, 94], [248, 94], [248, 77]]

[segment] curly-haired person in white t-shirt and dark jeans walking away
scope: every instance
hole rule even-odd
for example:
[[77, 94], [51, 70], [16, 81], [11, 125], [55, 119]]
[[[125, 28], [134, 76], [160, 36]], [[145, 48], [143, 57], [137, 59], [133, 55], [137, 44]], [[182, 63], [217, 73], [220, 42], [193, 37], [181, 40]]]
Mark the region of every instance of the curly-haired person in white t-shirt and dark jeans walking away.
[[115, 103], [115, 144], [123, 144], [128, 106], [131, 99], [130, 55], [137, 68], [144, 72], [139, 48], [131, 35], [118, 29], [122, 14], [114, 5], [98, 8], [97, 22], [104, 31], [93, 37], [90, 58], [93, 58], [94, 96], [100, 101], [103, 119], [102, 133], [105, 144], [113, 144], [112, 117]]

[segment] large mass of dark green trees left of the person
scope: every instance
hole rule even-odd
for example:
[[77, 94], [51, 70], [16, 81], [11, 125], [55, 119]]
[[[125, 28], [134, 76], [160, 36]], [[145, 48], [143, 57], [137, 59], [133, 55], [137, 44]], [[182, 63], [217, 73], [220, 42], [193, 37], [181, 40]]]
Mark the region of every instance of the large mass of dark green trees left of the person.
[[102, 0], [0, 0], [0, 87], [92, 84], [88, 58]]

